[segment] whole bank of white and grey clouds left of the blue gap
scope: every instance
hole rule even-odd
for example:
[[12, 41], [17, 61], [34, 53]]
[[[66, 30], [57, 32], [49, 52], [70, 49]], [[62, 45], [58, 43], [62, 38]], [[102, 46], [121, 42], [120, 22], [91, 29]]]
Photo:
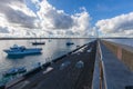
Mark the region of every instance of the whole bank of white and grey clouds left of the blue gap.
[[9, 37], [88, 37], [92, 33], [91, 17], [84, 7], [81, 12], [68, 14], [48, 0], [0, 0], [0, 33]]

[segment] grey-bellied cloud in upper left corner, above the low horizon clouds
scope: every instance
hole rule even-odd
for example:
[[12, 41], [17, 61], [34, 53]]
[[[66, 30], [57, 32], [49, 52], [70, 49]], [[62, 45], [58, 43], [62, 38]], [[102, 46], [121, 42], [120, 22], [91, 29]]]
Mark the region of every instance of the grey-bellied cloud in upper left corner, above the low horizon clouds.
[[9, 26], [35, 28], [35, 14], [27, 8], [23, 0], [0, 1], [0, 13], [3, 14]]

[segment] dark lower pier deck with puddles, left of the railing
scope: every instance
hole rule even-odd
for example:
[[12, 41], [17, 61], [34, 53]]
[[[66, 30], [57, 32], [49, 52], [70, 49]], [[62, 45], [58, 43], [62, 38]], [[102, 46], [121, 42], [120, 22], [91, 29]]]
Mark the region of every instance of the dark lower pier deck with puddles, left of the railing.
[[96, 41], [7, 89], [91, 89], [95, 51]]

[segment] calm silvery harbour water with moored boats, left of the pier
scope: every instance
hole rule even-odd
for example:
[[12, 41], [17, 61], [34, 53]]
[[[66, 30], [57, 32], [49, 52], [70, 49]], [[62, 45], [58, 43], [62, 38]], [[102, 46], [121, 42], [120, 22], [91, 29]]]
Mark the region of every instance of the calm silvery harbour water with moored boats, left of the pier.
[[[9, 49], [13, 44], [25, 46], [28, 48], [33, 48], [31, 42], [34, 40], [0, 40], [0, 77], [2, 72], [13, 67], [27, 67], [28, 70], [33, 68], [33, 65], [37, 62], [44, 63], [52, 59], [55, 59], [73, 49], [76, 48], [78, 44], [82, 46], [93, 39], [43, 39], [45, 44], [37, 46], [43, 48], [42, 55], [34, 56], [24, 56], [24, 57], [8, 57], [3, 49]], [[73, 46], [65, 46], [68, 41], [73, 41]], [[49, 58], [49, 59], [48, 59]]]

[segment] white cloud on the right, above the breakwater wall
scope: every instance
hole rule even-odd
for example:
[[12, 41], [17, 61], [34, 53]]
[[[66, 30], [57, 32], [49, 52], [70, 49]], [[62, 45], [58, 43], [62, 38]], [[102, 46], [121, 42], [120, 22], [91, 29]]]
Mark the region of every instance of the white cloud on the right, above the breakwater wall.
[[95, 24], [98, 29], [109, 36], [132, 36], [133, 34], [133, 12], [121, 14], [111, 19], [99, 20]]

